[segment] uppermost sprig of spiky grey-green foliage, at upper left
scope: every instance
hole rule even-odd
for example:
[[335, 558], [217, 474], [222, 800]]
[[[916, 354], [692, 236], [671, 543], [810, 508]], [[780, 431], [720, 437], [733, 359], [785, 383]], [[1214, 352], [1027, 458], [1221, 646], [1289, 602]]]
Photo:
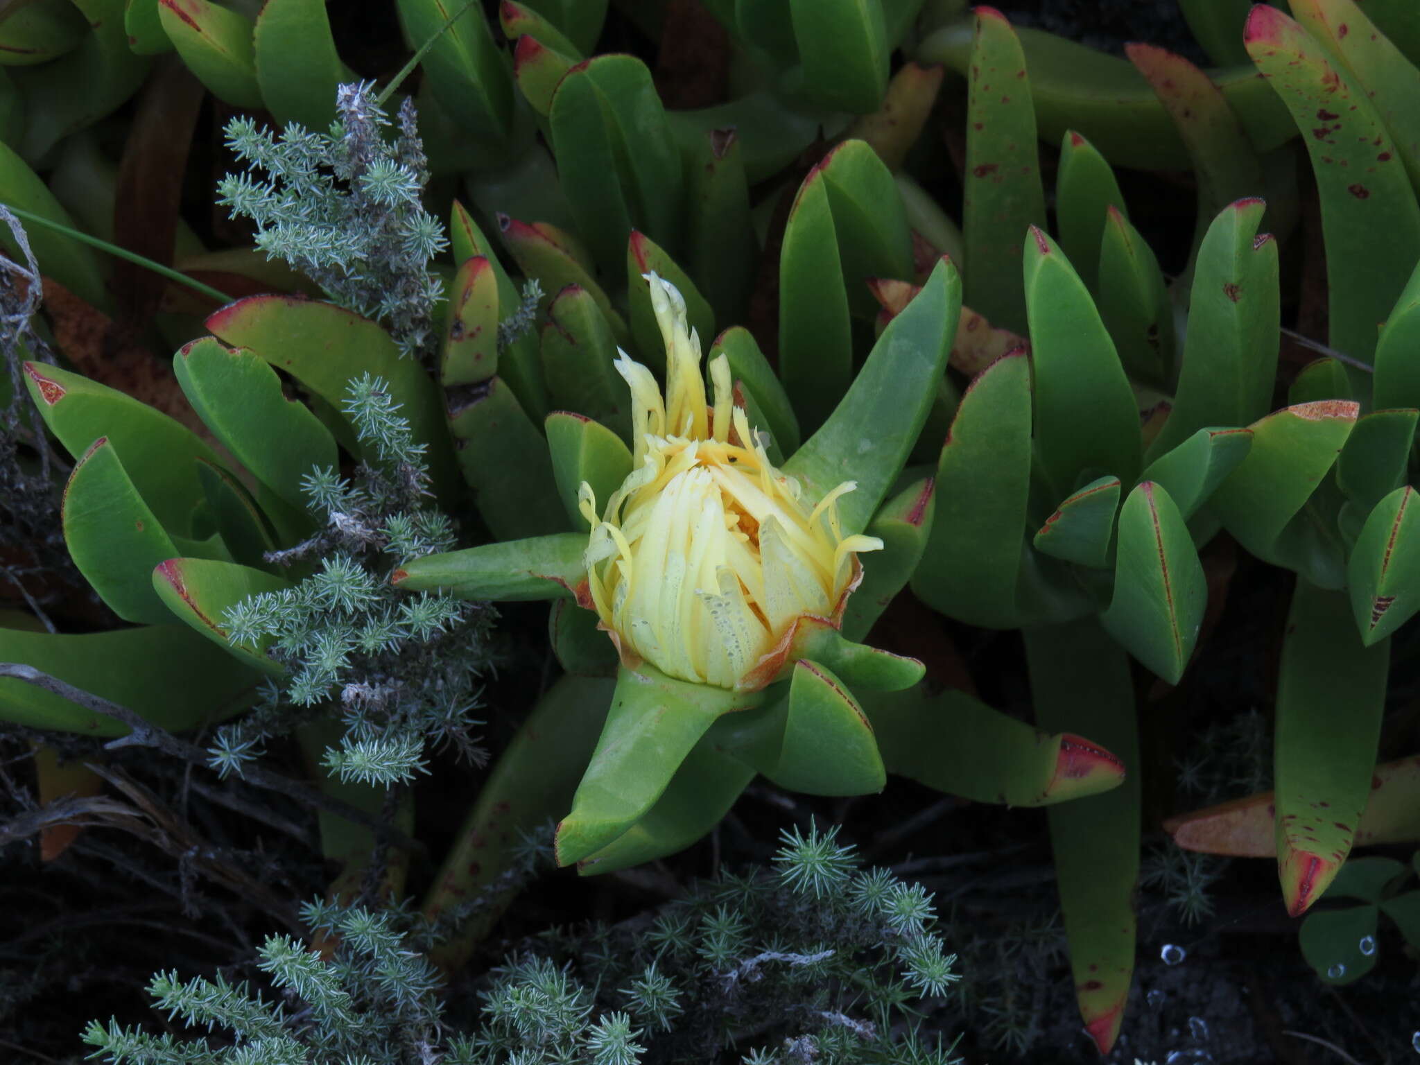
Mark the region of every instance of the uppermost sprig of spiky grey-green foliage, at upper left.
[[371, 85], [341, 85], [335, 108], [328, 133], [290, 124], [274, 136], [251, 118], [231, 119], [227, 143], [253, 172], [227, 175], [217, 203], [256, 222], [257, 247], [268, 256], [342, 307], [386, 324], [406, 354], [429, 356], [443, 295], [429, 260], [447, 240], [420, 202], [429, 166], [415, 105], [399, 108], [392, 142]]

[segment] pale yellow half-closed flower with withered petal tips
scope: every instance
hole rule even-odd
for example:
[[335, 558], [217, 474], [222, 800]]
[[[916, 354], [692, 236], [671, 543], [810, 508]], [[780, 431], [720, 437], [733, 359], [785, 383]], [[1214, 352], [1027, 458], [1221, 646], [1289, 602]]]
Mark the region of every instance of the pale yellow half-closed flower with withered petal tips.
[[835, 501], [802, 498], [734, 405], [730, 362], [710, 364], [706, 399], [700, 338], [670, 284], [648, 274], [666, 344], [666, 395], [621, 352], [630, 386], [635, 464], [598, 517], [589, 484], [579, 506], [592, 525], [588, 592], [622, 660], [645, 660], [694, 683], [755, 690], [791, 653], [798, 619], [838, 625], [858, 586], [858, 552], [875, 537], [842, 535]]

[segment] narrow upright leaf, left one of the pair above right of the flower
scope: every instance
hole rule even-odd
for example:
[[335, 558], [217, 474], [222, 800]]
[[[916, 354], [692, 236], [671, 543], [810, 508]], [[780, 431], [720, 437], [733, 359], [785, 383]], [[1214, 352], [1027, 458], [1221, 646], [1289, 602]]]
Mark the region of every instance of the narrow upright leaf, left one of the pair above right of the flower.
[[848, 307], [828, 182], [814, 168], [780, 248], [780, 378], [805, 429], [822, 425], [852, 378]]

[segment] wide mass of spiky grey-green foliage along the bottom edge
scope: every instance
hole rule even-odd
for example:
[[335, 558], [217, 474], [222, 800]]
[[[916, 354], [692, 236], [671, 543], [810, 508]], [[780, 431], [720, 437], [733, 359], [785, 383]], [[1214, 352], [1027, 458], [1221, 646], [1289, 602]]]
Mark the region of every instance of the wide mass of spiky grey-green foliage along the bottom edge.
[[405, 912], [310, 903], [339, 946], [324, 960], [266, 941], [257, 967], [287, 1005], [159, 974], [158, 1008], [220, 1039], [95, 1021], [84, 1041], [115, 1065], [950, 1065], [907, 1021], [956, 980], [926, 899], [858, 870], [834, 831], [790, 834], [771, 869], [699, 882], [655, 922], [537, 937], [488, 974], [467, 1025], [442, 1011]]

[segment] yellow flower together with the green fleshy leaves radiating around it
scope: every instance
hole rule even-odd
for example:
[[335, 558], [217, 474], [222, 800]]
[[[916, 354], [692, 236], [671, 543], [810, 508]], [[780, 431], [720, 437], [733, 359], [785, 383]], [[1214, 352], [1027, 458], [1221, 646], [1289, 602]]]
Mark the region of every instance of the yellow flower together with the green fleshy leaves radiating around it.
[[[960, 310], [960, 281], [941, 261], [795, 449], [785, 390], [748, 334], [720, 337], [707, 388], [687, 301], [659, 273], [633, 283], [648, 285], [632, 295], [649, 297], [665, 392], [645, 365], [608, 354], [630, 390], [628, 440], [584, 415], [547, 419], [578, 531], [429, 555], [393, 577], [408, 591], [589, 608], [554, 612], [552, 645], [572, 676], [494, 768], [517, 794], [488, 804], [497, 832], [506, 816], [555, 807], [545, 812], [565, 814], [558, 862], [585, 872], [687, 846], [755, 774], [819, 795], [883, 787], [882, 753], [853, 692], [910, 687], [923, 666], [855, 640], [926, 542], [930, 480], [885, 500], [927, 420]], [[602, 369], [611, 366], [585, 372]], [[777, 463], [781, 450], [792, 454]], [[866, 551], [879, 554], [865, 572]], [[851, 596], [861, 581], [862, 601]], [[615, 689], [599, 679], [611, 672]], [[575, 795], [569, 774], [581, 778]], [[471, 834], [479, 842], [457, 869], [491, 868], [493, 836]]]

